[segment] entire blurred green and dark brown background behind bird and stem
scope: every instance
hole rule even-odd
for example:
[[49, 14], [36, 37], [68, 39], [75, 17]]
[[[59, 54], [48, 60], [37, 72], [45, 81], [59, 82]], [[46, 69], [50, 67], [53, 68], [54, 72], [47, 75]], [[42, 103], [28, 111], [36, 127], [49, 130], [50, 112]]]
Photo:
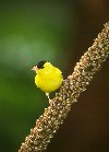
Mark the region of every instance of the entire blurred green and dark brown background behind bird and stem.
[[[0, 2], [0, 152], [15, 152], [48, 106], [31, 68], [49, 60], [64, 78], [109, 21], [107, 0]], [[109, 150], [109, 60], [74, 105], [48, 152]], [[82, 102], [83, 101], [83, 102]]]

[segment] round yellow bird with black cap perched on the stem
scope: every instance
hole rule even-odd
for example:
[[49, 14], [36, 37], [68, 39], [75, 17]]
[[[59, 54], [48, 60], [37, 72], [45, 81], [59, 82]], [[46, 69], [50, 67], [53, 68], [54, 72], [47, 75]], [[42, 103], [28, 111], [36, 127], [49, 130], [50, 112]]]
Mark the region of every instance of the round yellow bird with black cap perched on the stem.
[[39, 61], [32, 70], [36, 72], [35, 84], [46, 93], [48, 98], [49, 93], [59, 89], [63, 82], [62, 72], [48, 61]]

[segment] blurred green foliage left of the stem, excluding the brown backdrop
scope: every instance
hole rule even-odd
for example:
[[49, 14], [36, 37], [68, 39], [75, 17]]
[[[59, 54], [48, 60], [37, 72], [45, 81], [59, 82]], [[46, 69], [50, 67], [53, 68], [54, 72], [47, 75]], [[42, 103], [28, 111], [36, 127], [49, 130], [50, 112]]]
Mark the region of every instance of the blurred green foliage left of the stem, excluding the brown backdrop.
[[17, 151], [48, 106], [47, 97], [34, 84], [31, 68], [43, 59], [62, 68], [68, 22], [64, 3], [1, 4], [0, 151]]

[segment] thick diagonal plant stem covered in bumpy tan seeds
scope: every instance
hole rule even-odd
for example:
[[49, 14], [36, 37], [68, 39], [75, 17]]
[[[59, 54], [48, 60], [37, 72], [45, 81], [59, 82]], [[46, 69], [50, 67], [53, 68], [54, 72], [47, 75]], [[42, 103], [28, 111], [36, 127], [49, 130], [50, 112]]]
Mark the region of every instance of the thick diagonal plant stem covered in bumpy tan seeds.
[[81, 57], [74, 72], [63, 81], [59, 93], [51, 100], [44, 115], [36, 120], [35, 128], [22, 143], [19, 152], [41, 152], [47, 149], [50, 139], [59, 129], [73, 103], [93, 80], [94, 74], [109, 55], [109, 22], [105, 24], [101, 33], [95, 39], [92, 47]]

